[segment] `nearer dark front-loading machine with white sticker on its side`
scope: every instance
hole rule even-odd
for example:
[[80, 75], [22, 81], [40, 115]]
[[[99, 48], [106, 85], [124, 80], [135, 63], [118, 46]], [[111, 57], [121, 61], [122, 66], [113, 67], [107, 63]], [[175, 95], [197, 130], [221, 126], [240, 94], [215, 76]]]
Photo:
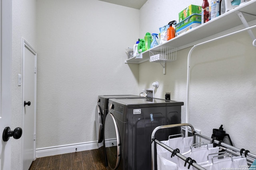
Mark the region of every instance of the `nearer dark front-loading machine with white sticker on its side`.
[[[181, 123], [183, 102], [155, 98], [110, 99], [104, 127], [108, 168], [150, 170], [151, 133], [160, 125]], [[162, 141], [179, 134], [180, 127], [160, 129]]]

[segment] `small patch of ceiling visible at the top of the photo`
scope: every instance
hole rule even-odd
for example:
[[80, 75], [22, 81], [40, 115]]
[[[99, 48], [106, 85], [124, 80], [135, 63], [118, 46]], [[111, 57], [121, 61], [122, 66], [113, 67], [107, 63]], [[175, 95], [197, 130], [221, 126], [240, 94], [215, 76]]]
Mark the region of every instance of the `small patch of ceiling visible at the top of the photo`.
[[100, 0], [100, 1], [127, 6], [127, 7], [135, 8], [138, 10], [147, 2], [147, 0]]

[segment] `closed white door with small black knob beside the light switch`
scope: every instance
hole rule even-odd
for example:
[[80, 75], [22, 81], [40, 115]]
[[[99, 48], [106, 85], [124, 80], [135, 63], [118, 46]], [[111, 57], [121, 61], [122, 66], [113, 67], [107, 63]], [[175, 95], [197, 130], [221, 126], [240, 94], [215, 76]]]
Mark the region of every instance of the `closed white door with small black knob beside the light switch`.
[[23, 170], [36, 155], [36, 51], [23, 40]]

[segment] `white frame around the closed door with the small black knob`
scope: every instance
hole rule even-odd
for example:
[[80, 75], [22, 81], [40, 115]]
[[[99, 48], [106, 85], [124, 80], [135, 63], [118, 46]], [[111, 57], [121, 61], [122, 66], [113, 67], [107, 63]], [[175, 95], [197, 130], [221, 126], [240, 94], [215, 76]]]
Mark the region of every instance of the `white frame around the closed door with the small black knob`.
[[[37, 74], [37, 53], [36, 51], [28, 44], [28, 42], [22, 38], [22, 129], [24, 129], [24, 69], [25, 69], [25, 48], [28, 49], [35, 56], [35, 74], [34, 74], [34, 160], [36, 159], [36, 74]], [[22, 140], [22, 167], [24, 160], [24, 138]]]

